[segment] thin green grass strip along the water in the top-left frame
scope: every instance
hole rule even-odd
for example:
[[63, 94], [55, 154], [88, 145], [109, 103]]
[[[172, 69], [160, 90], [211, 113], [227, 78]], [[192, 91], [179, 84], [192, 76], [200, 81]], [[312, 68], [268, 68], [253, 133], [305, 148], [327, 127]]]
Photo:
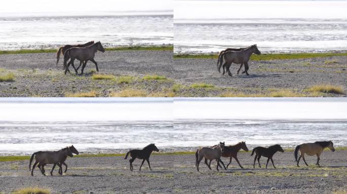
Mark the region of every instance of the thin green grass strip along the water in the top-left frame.
[[[36, 49], [36, 50], [17, 50], [17, 51], [0, 51], [0, 55], [6, 54], [33, 54], [33, 53], [56, 53], [57, 49]], [[173, 51], [173, 45], [162, 46], [118, 46], [106, 48], [106, 51]]]

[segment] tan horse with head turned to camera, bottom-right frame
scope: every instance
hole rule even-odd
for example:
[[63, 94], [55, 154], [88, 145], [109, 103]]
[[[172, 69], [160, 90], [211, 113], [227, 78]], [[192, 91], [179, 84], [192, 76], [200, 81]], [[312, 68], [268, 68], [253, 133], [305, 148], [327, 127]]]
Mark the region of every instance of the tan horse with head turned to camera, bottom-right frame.
[[[218, 146], [213, 148], [211, 147], [198, 148], [195, 152], [195, 158], [196, 158], [195, 166], [197, 171], [199, 171], [199, 164], [203, 158], [206, 158], [209, 160], [217, 160], [217, 171], [219, 171], [218, 169], [219, 163], [223, 164], [223, 162], [221, 161], [221, 156], [222, 156], [222, 152], [224, 151], [224, 145], [225, 145], [224, 142], [219, 142]], [[211, 170], [211, 167], [209, 166], [209, 164], [207, 164], [207, 160], [205, 160], [205, 164]]]

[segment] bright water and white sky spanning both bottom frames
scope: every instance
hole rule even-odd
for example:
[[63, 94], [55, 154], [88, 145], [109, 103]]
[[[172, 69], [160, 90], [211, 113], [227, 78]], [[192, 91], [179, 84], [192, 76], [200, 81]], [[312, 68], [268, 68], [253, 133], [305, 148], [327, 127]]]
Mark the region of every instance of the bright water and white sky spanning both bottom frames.
[[345, 98], [2, 98], [0, 155], [162, 151], [225, 141], [249, 147], [333, 140], [347, 146]]

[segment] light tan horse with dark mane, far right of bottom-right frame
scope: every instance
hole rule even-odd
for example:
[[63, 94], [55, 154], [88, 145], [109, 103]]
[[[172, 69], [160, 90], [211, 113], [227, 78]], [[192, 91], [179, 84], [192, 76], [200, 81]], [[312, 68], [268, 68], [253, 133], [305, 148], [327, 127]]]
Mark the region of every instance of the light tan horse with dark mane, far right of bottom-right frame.
[[[295, 148], [294, 156], [296, 165], [299, 166], [299, 161], [302, 160], [305, 162], [306, 166], [308, 164], [305, 161], [305, 154], [308, 156], [317, 155], [316, 165], [320, 166], [319, 160], [320, 156], [325, 148], [329, 148], [332, 152], [335, 152], [334, 143], [332, 141], [316, 141], [314, 143], [302, 143]], [[298, 151], [300, 151], [300, 157], [298, 159]]]

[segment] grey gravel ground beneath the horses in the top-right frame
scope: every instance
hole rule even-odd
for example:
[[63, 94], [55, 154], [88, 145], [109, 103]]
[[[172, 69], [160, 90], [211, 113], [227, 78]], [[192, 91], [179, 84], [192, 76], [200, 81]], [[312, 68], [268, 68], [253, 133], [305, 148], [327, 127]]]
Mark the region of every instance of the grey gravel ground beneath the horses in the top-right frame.
[[[328, 61], [335, 63], [327, 64]], [[250, 61], [250, 76], [237, 75], [239, 65], [232, 64], [232, 77], [218, 73], [217, 59], [175, 59], [173, 62], [173, 79], [186, 85], [203, 82], [245, 93], [273, 88], [302, 90], [316, 84], [332, 84], [347, 89], [347, 57]]]

